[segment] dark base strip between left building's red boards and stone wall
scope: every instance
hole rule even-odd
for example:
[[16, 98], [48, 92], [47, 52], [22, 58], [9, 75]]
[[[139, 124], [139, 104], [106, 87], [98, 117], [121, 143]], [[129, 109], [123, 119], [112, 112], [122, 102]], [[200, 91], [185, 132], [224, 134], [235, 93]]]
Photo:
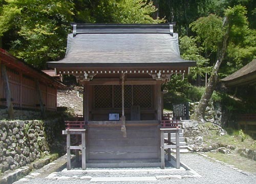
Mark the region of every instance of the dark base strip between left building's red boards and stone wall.
[[[41, 112], [38, 110], [16, 110], [13, 109], [14, 120], [35, 120], [41, 116]], [[7, 109], [0, 109], [0, 120], [7, 120]]]

